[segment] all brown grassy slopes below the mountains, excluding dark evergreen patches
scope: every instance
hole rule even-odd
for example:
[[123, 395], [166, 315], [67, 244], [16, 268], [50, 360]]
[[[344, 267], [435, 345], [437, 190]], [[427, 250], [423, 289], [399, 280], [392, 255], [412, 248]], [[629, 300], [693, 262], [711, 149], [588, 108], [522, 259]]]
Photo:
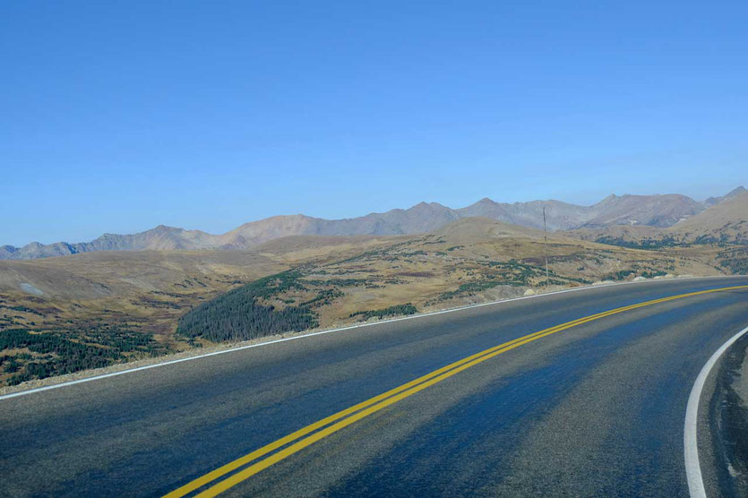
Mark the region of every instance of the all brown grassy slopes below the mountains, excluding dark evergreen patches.
[[[528, 288], [723, 271], [715, 267], [715, 254], [704, 251], [642, 251], [551, 234], [546, 282], [541, 231], [460, 219], [422, 236], [291, 236], [253, 251], [102, 252], [0, 262], [0, 334], [25, 329], [103, 349], [120, 348], [120, 338], [154, 334], [146, 347], [122, 346], [125, 356], [112, 361], [124, 361], [204, 344], [200, 337], [195, 342], [175, 335], [180, 316], [230, 288], [289, 268], [297, 269], [294, 278], [303, 285], [263, 297], [261, 304], [307, 306], [326, 327], [362, 319], [352, 313], [406, 303], [427, 311], [520, 296]], [[32, 364], [61, 359], [5, 348], [0, 383], [29, 374]]]

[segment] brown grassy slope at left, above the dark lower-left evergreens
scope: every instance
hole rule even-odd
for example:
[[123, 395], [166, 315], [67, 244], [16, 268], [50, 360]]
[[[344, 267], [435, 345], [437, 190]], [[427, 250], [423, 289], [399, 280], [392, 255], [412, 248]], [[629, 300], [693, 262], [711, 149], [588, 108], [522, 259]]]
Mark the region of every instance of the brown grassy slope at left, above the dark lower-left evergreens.
[[[253, 251], [101, 252], [0, 262], [0, 319], [12, 315], [15, 325], [38, 331], [116, 322], [169, 342], [176, 318], [205, 299], [295, 264], [391, 240], [397, 239], [307, 237], [305, 243], [277, 240]], [[11, 309], [19, 306], [33, 311]], [[0, 330], [13, 323], [0, 322]]]

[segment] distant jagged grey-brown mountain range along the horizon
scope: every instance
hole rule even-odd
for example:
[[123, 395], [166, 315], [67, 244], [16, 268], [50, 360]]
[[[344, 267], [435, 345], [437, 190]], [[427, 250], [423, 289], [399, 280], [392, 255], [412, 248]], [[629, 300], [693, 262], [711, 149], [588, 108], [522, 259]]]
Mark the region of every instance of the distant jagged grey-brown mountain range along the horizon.
[[90, 241], [23, 247], [0, 246], [0, 260], [28, 260], [97, 251], [247, 249], [283, 236], [405, 235], [434, 231], [452, 221], [485, 217], [528, 228], [543, 228], [543, 208], [549, 230], [606, 228], [613, 226], [673, 227], [705, 210], [746, 193], [738, 187], [721, 197], [697, 202], [682, 194], [609, 195], [591, 206], [560, 201], [494, 202], [485, 198], [460, 209], [437, 202], [420, 202], [406, 210], [371, 213], [352, 219], [321, 219], [302, 214], [274, 216], [245, 223], [225, 234], [212, 235], [159, 225], [132, 235], [104, 234]]

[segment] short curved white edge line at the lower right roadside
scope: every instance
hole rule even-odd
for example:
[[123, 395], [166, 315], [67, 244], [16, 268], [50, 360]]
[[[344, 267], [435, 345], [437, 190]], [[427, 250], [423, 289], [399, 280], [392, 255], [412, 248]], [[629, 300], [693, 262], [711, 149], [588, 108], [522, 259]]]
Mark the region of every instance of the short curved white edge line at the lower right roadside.
[[688, 492], [691, 494], [691, 498], [706, 498], [707, 492], [704, 488], [704, 481], [701, 478], [701, 465], [699, 464], [699, 441], [697, 435], [697, 429], [699, 425], [699, 400], [701, 399], [701, 391], [704, 389], [704, 383], [709, 377], [709, 373], [714, 365], [717, 364], [719, 356], [722, 356], [727, 348], [733, 345], [733, 343], [740, 339], [746, 332], [748, 327], [745, 327], [742, 331], [736, 333], [733, 337], [727, 340], [714, 354], [709, 358], [709, 361], [701, 368], [699, 376], [696, 377], [696, 382], [693, 383], [691, 395], [688, 397], [688, 406], [685, 410], [685, 425], [684, 425], [684, 458], [685, 458], [685, 476], [688, 480]]

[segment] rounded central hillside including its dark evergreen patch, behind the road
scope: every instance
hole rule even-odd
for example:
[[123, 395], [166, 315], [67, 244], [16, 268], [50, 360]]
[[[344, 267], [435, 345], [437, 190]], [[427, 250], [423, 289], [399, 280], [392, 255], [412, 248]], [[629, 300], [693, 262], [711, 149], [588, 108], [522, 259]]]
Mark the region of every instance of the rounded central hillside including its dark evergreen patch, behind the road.
[[[709, 258], [707, 258], [709, 259]], [[190, 339], [254, 339], [303, 327], [430, 311], [599, 279], [718, 274], [698, 258], [580, 242], [491, 219], [462, 219], [426, 236], [261, 279], [186, 313]]]

